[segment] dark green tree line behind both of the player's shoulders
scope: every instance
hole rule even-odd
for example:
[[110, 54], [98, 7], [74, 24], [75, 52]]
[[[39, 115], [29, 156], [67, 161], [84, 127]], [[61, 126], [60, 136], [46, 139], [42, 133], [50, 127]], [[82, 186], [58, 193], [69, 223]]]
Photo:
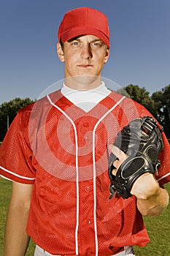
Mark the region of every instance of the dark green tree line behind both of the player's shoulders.
[[[134, 99], [147, 108], [152, 113], [152, 116], [160, 122], [166, 137], [170, 139], [170, 84], [161, 89], [161, 91], [155, 91], [151, 96], [150, 92], [144, 87], [140, 88], [132, 84], [125, 86], [118, 92]], [[32, 102], [34, 101], [29, 98], [15, 98], [0, 105], [0, 141], [4, 139], [7, 129], [18, 110]]]

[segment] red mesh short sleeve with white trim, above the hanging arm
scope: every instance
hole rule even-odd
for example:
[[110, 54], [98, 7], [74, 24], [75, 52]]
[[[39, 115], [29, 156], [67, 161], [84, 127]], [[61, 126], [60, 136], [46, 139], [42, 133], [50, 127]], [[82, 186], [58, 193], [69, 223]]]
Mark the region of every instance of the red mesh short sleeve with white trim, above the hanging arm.
[[31, 110], [20, 110], [0, 147], [0, 175], [23, 184], [34, 184], [36, 170], [28, 139]]

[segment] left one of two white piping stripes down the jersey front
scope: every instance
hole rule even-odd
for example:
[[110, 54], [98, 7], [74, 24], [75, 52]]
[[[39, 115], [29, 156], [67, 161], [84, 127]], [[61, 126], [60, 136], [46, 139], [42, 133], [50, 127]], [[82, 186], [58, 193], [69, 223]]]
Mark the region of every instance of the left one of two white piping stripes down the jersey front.
[[49, 95], [47, 95], [47, 99], [49, 100], [50, 104], [53, 105], [54, 108], [57, 108], [61, 113], [63, 113], [66, 118], [69, 119], [72, 126], [74, 127], [74, 135], [75, 135], [75, 144], [76, 144], [76, 191], [77, 191], [77, 206], [76, 206], [76, 229], [75, 229], [75, 241], [76, 241], [76, 255], [79, 255], [78, 253], [78, 229], [79, 229], [79, 167], [78, 167], [78, 138], [77, 138], [77, 129], [74, 124], [74, 121], [72, 121], [72, 118], [70, 118], [61, 108], [59, 108], [57, 105], [55, 105], [52, 100], [50, 99]]

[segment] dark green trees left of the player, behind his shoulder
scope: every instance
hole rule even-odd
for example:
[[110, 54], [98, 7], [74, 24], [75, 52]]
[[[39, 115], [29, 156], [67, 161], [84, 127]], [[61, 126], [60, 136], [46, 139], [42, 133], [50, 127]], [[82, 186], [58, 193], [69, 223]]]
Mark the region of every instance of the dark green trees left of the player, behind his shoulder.
[[18, 110], [33, 102], [31, 99], [15, 98], [0, 105], [0, 141], [4, 139], [7, 128], [12, 123]]

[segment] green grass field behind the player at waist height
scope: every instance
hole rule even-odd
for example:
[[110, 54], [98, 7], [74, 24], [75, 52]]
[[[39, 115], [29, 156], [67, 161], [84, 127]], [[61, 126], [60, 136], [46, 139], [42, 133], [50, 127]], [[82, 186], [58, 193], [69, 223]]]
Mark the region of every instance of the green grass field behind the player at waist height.
[[[170, 184], [166, 184], [170, 195]], [[3, 255], [4, 224], [9, 203], [11, 182], [0, 178], [0, 255]], [[170, 255], [170, 204], [159, 217], [144, 217], [150, 236], [146, 247], [135, 246], [136, 256], [169, 256]], [[34, 242], [31, 241], [26, 256], [34, 255]], [[104, 256], [104, 255], [103, 255]]]

